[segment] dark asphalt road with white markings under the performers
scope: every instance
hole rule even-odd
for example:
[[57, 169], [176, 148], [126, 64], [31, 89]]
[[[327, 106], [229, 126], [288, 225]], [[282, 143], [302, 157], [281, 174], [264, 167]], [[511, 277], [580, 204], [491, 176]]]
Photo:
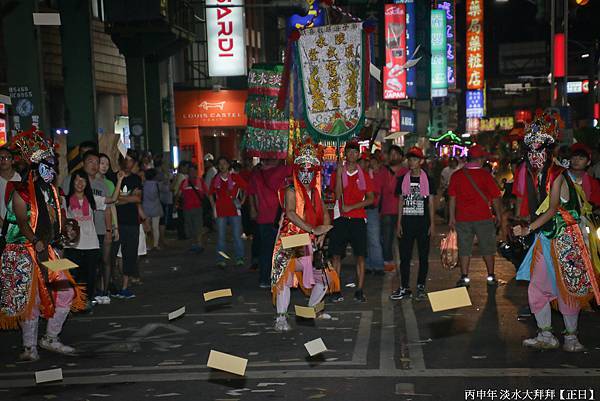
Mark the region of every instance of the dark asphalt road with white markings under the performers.
[[[213, 251], [173, 247], [142, 260], [136, 299], [69, 318], [61, 338], [78, 357], [41, 350], [40, 361], [17, 363], [20, 333], [0, 332], [0, 400], [599, 399], [600, 315], [581, 314], [584, 353], [523, 349], [535, 333], [533, 318], [517, 319], [526, 285], [515, 282], [510, 263], [497, 261], [502, 283], [494, 289], [474, 259], [471, 307], [434, 313], [428, 301], [390, 301], [395, 279], [387, 273], [367, 276], [367, 303], [355, 303], [349, 287], [345, 302], [327, 303], [330, 321], [295, 318], [291, 307], [294, 330], [280, 334], [257, 272], [220, 270]], [[354, 281], [352, 258], [345, 263], [344, 286]], [[452, 288], [457, 276], [433, 250], [428, 291]], [[222, 288], [233, 297], [204, 302], [204, 292]], [[306, 299], [294, 291], [292, 304]], [[182, 306], [186, 314], [169, 322]], [[553, 319], [559, 333], [562, 319]], [[319, 337], [328, 351], [311, 358], [304, 343]], [[247, 358], [245, 376], [207, 368], [211, 350]], [[54, 368], [62, 381], [35, 384], [36, 371]]]

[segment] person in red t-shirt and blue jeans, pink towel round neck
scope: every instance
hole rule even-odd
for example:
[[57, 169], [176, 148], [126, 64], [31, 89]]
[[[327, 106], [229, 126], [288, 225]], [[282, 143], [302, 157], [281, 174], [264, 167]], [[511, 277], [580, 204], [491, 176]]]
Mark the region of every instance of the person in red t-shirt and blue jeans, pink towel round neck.
[[233, 250], [236, 266], [244, 265], [244, 243], [242, 242], [241, 207], [246, 200], [246, 181], [239, 174], [231, 173], [231, 163], [226, 157], [217, 159], [219, 173], [210, 184], [210, 204], [217, 223], [217, 266], [225, 267], [225, 234], [227, 225], [233, 231]]

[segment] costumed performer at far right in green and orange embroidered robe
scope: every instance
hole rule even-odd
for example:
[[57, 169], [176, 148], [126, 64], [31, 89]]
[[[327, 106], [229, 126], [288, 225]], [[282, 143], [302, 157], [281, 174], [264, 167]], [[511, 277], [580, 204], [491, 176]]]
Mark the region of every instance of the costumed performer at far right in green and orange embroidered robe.
[[[548, 157], [547, 148], [557, 134], [557, 122], [543, 115], [526, 127], [525, 144], [531, 156], [540, 162]], [[542, 163], [541, 163], [542, 164]], [[516, 235], [536, 232], [525, 256], [517, 280], [529, 281], [529, 306], [539, 328], [536, 337], [523, 341], [524, 347], [556, 349], [558, 339], [552, 334], [550, 303], [556, 301], [565, 323], [563, 349], [581, 352], [577, 338], [577, 320], [581, 305], [600, 297], [597, 277], [591, 263], [579, 222], [581, 205], [575, 184], [564, 168], [551, 169], [546, 179], [548, 196], [528, 227], [514, 227]]]

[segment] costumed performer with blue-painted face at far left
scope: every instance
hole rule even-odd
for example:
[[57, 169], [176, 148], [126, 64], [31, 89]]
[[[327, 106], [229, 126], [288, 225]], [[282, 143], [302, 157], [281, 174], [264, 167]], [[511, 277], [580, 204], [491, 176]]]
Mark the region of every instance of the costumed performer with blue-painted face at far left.
[[85, 293], [67, 271], [51, 271], [42, 262], [57, 259], [54, 247], [64, 229], [56, 186], [54, 145], [31, 129], [11, 146], [29, 165], [23, 182], [7, 188], [6, 247], [0, 267], [0, 328], [23, 331], [23, 361], [39, 359], [38, 318], [48, 319], [41, 348], [72, 355], [60, 342], [70, 310], [85, 308]]

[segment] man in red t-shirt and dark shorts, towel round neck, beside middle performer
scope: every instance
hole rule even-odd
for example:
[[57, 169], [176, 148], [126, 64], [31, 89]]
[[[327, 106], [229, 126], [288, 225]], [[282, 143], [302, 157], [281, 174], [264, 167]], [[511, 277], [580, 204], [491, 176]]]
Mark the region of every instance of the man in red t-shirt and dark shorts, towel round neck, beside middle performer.
[[[348, 243], [356, 257], [356, 275], [358, 289], [354, 299], [366, 302], [363, 294], [365, 281], [365, 256], [367, 254], [367, 212], [365, 207], [373, 203], [373, 182], [367, 172], [357, 164], [360, 151], [358, 142], [347, 142], [344, 149], [346, 164], [338, 166], [331, 178], [331, 187], [335, 189], [336, 211], [334, 211], [333, 229], [329, 237], [329, 251], [333, 256], [333, 266], [338, 275], [342, 267], [342, 257], [346, 255]], [[333, 302], [344, 300], [342, 293], [333, 294]]]

